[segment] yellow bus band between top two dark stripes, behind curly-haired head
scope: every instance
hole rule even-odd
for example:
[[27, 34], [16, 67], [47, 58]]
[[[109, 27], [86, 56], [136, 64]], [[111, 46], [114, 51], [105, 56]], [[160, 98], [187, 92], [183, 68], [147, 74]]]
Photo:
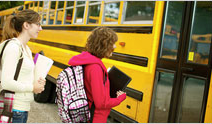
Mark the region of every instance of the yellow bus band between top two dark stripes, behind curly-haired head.
[[[37, 39], [55, 43], [84, 47], [90, 32], [71, 30], [43, 30]], [[150, 58], [153, 41], [152, 34], [118, 33], [117, 48], [114, 52]], [[119, 45], [125, 42], [125, 46]]]

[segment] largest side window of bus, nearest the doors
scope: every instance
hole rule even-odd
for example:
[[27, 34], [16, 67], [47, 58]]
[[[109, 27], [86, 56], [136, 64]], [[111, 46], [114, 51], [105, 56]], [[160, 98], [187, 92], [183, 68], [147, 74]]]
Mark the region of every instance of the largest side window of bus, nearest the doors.
[[153, 24], [155, 1], [128, 1], [124, 8], [124, 24]]

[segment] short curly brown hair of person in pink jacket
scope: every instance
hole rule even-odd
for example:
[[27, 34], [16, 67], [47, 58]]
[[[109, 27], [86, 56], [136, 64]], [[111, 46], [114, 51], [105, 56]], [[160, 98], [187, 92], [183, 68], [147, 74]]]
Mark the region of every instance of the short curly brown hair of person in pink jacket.
[[107, 27], [95, 28], [87, 39], [86, 50], [98, 58], [109, 57], [118, 40], [116, 33]]

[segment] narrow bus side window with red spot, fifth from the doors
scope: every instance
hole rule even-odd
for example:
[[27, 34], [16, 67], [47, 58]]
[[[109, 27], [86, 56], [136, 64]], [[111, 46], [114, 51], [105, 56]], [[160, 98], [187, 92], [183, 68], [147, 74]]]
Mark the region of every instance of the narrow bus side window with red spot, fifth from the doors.
[[64, 24], [71, 24], [72, 17], [73, 17], [73, 8], [74, 8], [74, 1], [67, 1]]

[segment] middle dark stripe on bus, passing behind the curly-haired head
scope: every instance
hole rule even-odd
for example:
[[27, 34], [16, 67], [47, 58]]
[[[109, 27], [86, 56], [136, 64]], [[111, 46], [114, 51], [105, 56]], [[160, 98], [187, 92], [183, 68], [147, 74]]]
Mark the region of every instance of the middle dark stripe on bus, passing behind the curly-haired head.
[[[61, 44], [61, 43], [55, 43], [55, 42], [49, 42], [49, 41], [37, 40], [37, 39], [31, 39], [30, 41], [48, 45], [48, 46], [76, 51], [76, 52], [85, 51], [84, 47], [78, 47], [78, 46], [73, 46], [73, 45], [68, 45], [68, 44]], [[127, 63], [135, 64], [135, 65], [140, 65], [140, 66], [144, 66], [144, 67], [147, 67], [147, 64], [148, 64], [147, 57], [140, 57], [140, 56], [134, 56], [134, 55], [122, 54], [122, 53], [116, 53], [116, 52], [113, 52], [113, 55], [112, 55], [112, 57], [110, 57], [110, 59], [127, 62]]]

